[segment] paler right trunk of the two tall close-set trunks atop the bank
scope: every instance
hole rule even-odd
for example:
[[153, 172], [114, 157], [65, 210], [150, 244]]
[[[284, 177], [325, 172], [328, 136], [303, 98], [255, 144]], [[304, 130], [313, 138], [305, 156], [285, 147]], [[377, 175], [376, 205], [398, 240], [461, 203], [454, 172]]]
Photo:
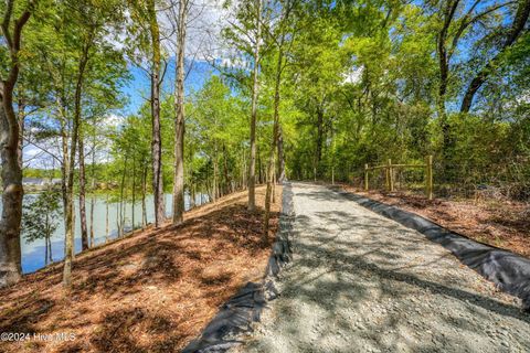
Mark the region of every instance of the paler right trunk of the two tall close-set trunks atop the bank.
[[180, 224], [184, 215], [184, 50], [188, 0], [179, 1], [177, 21], [177, 85], [174, 94], [174, 167], [173, 167], [173, 224]]

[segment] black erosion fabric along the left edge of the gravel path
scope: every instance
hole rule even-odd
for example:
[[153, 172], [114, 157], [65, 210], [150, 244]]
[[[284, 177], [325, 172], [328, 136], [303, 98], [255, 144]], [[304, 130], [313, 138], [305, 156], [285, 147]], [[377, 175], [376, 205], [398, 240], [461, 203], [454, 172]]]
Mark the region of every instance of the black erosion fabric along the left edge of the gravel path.
[[290, 232], [293, 228], [293, 191], [290, 183], [283, 183], [282, 214], [276, 242], [273, 244], [265, 277], [261, 284], [248, 282], [225, 302], [201, 335], [191, 341], [182, 353], [226, 352], [242, 342], [237, 334], [251, 332], [253, 322], [259, 321], [267, 301], [278, 296], [273, 277], [290, 261]]

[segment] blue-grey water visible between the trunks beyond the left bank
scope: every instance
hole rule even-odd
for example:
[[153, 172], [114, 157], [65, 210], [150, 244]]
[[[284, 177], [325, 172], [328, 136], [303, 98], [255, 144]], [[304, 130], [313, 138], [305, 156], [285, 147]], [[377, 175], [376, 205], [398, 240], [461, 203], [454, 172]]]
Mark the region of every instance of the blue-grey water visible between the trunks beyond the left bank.
[[[169, 217], [172, 212], [172, 195], [166, 194], [166, 214]], [[202, 199], [201, 199], [202, 196]], [[33, 195], [29, 194], [25, 197], [33, 197]], [[195, 204], [200, 205], [204, 202], [208, 202], [208, 195], [195, 195]], [[81, 224], [80, 220], [80, 203], [75, 201], [75, 253], [81, 252]], [[184, 206], [186, 210], [190, 208], [190, 196], [187, 194], [184, 197]], [[155, 207], [152, 202], [152, 195], [146, 197], [146, 210], [147, 210], [147, 222], [155, 221]], [[1, 203], [0, 203], [0, 211], [1, 211]], [[118, 211], [118, 203], [109, 203], [108, 204], [108, 238], [113, 239], [116, 238], [118, 235], [118, 226], [117, 226], [117, 211]], [[87, 226], [89, 229], [89, 212], [91, 212], [91, 199], [88, 197], [86, 201], [86, 212], [87, 212]], [[105, 196], [98, 196], [95, 200], [94, 205], [94, 237], [96, 245], [105, 243], [106, 238], [106, 214], [107, 214], [107, 203]], [[132, 221], [132, 205], [131, 203], [125, 204], [125, 232], [131, 229], [131, 221]], [[52, 255], [53, 260], [62, 260], [64, 257], [64, 223], [61, 217], [59, 220], [59, 226], [55, 233], [53, 234], [52, 240]], [[138, 202], [135, 204], [135, 226], [141, 226], [141, 203]], [[44, 267], [44, 239], [38, 239], [31, 243], [25, 242], [24, 235], [22, 233], [20, 245], [22, 249], [22, 271], [24, 274], [33, 272], [40, 268]]]

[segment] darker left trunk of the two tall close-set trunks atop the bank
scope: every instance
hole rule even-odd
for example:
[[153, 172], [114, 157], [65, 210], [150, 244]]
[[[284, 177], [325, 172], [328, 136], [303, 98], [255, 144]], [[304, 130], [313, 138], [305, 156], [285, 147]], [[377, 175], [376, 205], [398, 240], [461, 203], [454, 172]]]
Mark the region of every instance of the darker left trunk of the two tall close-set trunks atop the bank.
[[162, 140], [160, 133], [160, 29], [157, 21], [155, 0], [148, 2], [149, 30], [151, 35], [151, 154], [152, 193], [155, 201], [155, 227], [160, 227], [166, 218], [162, 182]]

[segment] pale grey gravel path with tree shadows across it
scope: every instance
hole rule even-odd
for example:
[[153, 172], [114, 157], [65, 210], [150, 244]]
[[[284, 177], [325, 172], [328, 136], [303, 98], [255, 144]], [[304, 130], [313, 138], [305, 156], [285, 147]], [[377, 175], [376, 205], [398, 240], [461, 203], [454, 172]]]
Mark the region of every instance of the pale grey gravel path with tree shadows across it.
[[530, 352], [530, 315], [442, 246], [294, 183], [294, 261], [241, 352]]

